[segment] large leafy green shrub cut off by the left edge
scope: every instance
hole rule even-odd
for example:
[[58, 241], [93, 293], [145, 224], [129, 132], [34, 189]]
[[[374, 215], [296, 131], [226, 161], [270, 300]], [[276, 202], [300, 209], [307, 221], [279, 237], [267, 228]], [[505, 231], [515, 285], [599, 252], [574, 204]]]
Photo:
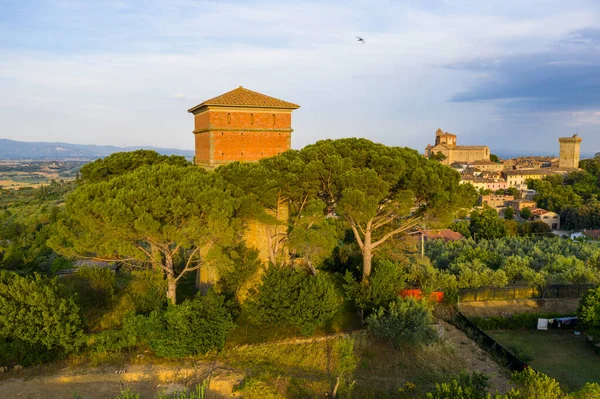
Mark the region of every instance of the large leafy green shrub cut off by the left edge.
[[83, 344], [79, 308], [60, 295], [56, 279], [0, 272], [0, 340], [18, 352], [16, 342], [71, 353]]

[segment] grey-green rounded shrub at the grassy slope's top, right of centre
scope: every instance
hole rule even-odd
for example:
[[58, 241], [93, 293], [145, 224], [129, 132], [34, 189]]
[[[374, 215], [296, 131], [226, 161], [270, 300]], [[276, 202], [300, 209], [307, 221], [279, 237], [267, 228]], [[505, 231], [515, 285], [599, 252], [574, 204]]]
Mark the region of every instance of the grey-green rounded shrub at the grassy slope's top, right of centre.
[[396, 298], [387, 308], [379, 308], [367, 318], [367, 327], [374, 336], [399, 348], [433, 342], [436, 331], [432, 322], [433, 315], [427, 302], [409, 297]]

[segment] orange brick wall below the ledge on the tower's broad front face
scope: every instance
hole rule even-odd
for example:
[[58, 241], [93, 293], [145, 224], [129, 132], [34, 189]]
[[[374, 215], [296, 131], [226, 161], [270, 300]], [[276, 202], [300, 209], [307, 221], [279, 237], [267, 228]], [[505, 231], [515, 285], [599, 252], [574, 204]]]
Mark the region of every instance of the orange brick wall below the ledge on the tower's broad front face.
[[290, 132], [213, 131], [211, 136], [214, 163], [258, 161], [289, 150], [291, 143]]

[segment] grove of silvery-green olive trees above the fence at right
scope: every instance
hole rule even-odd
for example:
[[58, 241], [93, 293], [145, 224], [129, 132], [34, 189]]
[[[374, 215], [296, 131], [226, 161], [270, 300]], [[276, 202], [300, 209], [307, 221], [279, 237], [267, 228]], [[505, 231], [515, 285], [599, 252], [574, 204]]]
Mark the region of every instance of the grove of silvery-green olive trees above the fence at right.
[[459, 287], [589, 284], [600, 279], [600, 243], [560, 238], [429, 241], [433, 265], [456, 276]]

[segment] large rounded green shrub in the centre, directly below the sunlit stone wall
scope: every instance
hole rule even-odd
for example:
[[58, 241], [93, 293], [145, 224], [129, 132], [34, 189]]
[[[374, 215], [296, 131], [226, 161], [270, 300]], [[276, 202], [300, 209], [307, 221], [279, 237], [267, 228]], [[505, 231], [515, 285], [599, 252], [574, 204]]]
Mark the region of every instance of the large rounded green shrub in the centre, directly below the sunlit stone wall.
[[261, 323], [291, 324], [310, 335], [331, 320], [339, 304], [335, 284], [327, 274], [313, 276], [303, 270], [270, 267], [248, 306]]

